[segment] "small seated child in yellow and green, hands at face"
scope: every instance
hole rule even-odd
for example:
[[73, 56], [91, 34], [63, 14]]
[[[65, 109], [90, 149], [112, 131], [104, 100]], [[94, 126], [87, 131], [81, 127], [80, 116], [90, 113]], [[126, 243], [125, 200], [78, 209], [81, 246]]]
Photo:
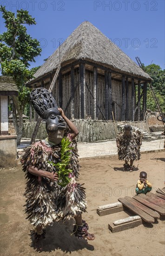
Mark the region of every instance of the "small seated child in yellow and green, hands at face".
[[147, 181], [146, 172], [140, 172], [140, 179], [136, 184], [136, 194], [146, 194], [152, 190], [152, 184]]

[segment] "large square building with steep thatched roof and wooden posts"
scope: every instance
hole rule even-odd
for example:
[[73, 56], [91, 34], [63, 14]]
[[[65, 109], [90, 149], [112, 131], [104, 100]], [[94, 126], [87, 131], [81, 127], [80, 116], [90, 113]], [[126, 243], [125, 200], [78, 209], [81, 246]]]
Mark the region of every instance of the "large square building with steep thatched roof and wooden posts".
[[[59, 80], [53, 91], [59, 105], [71, 118], [134, 120], [135, 86], [145, 84], [143, 117], [146, 109], [146, 83], [151, 78], [99, 29], [85, 21], [47, 59], [28, 82], [29, 87], [48, 87], [61, 60]], [[142, 118], [143, 118], [142, 117]]]

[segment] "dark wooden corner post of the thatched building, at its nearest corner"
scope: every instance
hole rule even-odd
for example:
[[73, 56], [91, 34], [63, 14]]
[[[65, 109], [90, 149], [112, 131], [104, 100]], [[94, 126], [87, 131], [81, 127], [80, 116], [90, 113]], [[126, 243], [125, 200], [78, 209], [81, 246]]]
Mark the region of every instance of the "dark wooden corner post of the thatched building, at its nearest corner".
[[80, 113], [81, 119], [86, 118], [86, 68], [84, 63], [79, 64], [80, 81]]

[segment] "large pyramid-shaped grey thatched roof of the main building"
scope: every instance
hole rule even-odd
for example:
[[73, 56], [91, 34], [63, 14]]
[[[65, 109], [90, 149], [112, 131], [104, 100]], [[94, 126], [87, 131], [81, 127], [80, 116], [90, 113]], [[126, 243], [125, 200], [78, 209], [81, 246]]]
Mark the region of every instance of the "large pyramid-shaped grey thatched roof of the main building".
[[[60, 58], [63, 66], [64, 63], [86, 60], [109, 67], [114, 71], [151, 80], [148, 74], [88, 21], [81, 23], [64, 41], [60, 47]], [[53, 72], [58, 65], [59, 48], [37, 70], [34, 81]], [[33, 84], [33, 82], [29, 83]]]

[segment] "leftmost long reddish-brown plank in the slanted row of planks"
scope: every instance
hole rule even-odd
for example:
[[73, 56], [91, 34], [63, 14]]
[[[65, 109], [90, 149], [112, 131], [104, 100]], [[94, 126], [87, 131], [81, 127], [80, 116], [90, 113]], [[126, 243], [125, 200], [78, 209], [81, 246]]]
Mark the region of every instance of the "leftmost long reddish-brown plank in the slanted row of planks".
[[119, 198], [118, 201], [121, 202], [128, 209], [132, 210], [136, 215], [139, 215], [145, 222], [151, 222], [151, 223], [155, 222], [155, 219], [152, 216], [145, 213], [143, 210], [139, 209], [137, 206], [134, 206], [126, 198]]

